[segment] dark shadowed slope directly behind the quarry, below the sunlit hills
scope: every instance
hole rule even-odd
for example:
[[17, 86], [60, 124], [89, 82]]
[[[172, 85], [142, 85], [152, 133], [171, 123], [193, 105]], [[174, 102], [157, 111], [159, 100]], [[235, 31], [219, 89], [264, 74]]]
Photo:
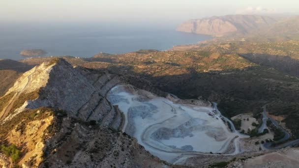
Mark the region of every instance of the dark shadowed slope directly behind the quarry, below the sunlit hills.
[[[130, 76], [136, 80], [129, 82], [140, 87], [140, 81], [148, 81], [152, 87], [172, 93], [181, 99], [198, 98], [217, 102], [219, 109], [231, 117], [239, 113], [259, 113], [266, 103], [280, 100], [297, 102], [299, 88], [289, 89], [290, 85], [283, 73], [269, 73], [252, 67], [247, 70], [216, 71], [198, 73], [188, 69], [189, 73], [180, 75], [151, 76], [136, 73], [132, 66], [110, 66], [112, 73]], [[265, 68], [267, 69], [267, 68]], [[273, 82], [286, 80], [285, 83]]]

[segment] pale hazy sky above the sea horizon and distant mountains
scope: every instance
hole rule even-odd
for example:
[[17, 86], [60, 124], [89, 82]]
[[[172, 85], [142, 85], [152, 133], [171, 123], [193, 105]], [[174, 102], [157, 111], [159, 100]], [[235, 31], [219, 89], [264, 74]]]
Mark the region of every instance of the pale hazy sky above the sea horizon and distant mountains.
[[2, 22], [179, 23], [236, 13], [299, 13], [299, 0], [0, 0]]

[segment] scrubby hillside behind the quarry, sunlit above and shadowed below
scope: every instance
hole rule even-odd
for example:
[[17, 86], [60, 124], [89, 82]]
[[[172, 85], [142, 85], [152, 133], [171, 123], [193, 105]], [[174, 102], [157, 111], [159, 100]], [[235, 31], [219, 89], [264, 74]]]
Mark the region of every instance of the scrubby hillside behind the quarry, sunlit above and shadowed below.
[[[138, 76], [180, 98], [200, 96], [201, 99], [218, 102], [221, 111], [230, 117], [239, 113], [258, 114], [267, 103], [283, 102], [292, 107], [292, 110], [284, 112], [286, 122], [294, 118], [294, 114], [297, 117], [295, 112], [298, 112], [297, 105], [294, 106], [299, 94], [298, 77], [294, 76], [298, 75], [296, 46], [294, 41], [241, 45], [221, 43], [198, 47], [196, 51], [97, 55], [88, 61], [92, 66], [98, 60], [105, 61], [105, 68], [114, 73]], [[252, 57], [252, 53], [261, 54]], [[287, 57], [291, 53], [294, 60]], [[80, 64], [88, 65], [87, 62]], [[270, 112], [278, 114], [275, 108], [283, 108], [283, 103], [269, 107]], [[299, 137], [297, 127], [289, 128], [294, 138]]]

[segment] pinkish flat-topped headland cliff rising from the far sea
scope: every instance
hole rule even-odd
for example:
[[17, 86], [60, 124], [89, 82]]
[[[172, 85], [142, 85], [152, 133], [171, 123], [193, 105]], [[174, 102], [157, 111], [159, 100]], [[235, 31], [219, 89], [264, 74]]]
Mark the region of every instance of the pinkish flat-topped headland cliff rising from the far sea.
[[189, 20], [177, 30], [196, 34], [222, 35], [232, 32], [248, 33], [252, 30], [273, 25], [275, 19], [256, 15], [227, 15]]

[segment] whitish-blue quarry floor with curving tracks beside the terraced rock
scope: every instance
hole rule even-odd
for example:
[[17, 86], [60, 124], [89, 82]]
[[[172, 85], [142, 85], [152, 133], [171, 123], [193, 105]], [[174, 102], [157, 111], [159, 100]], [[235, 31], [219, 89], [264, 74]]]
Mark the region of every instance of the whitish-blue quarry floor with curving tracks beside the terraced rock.
[[122, 131], [135, 137], [151, 154], [170, 163], [182, 154], [222, 153], [235, 137], [242, 138], [228, 130], [212, 107], [175, 104], [148, 91], [135, 90], [131, 85], [114, 87], [108, 99], [124, 112]]

